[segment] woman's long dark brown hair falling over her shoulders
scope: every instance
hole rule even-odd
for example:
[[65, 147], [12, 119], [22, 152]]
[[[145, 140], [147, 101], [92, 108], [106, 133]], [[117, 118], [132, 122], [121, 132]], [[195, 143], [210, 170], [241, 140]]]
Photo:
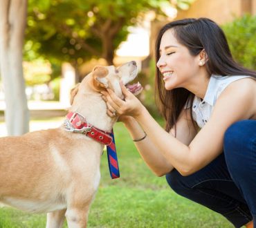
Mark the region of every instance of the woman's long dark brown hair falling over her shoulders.
[[[208, 57], [208, 61], [205, 62], [208, 75], [250, 75], [256, 78], [255, 71], [248, 70], [234, 61], [223, 30], [207, 18], [182, 19], [163, 26], [156, 39], [156, 62], [160, 57], [161, 38], [165, 31], [171, 28], [177, 41], [186, 46], [191, 55], [199, 55], [201, 50], [205, 50]], [[160, 74], [156, 67], [156, 101], [166, 121], [165, 130], [170, 131], [174, 126], [176, 132], [178, 117], [186, 102], [192, 104], [194, 94], [185, 88], [167, 91]], [[190, 116], [192, 117], [192, 108]]]

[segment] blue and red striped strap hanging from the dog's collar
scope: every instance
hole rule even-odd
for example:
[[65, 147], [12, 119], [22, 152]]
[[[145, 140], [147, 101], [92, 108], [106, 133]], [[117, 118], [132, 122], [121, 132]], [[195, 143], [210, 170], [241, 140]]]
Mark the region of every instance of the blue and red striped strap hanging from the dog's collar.
[[115, 137], [113, 136], [113, 129], [110, 136], [112, 137], [112, 142], [107, 146], [107, 159], [109, 160], [109, 173], [112, 179], [120, 177], [119, 167], [118, 167], [118, 155], [116, 154], [116, 144]]

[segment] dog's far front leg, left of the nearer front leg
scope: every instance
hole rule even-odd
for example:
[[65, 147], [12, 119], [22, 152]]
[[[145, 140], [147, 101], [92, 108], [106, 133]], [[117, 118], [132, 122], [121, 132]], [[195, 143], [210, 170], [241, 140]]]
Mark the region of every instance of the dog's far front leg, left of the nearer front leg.
[[47, 213], [46, 228], [61, 228], [65, 219], [66, 209]]

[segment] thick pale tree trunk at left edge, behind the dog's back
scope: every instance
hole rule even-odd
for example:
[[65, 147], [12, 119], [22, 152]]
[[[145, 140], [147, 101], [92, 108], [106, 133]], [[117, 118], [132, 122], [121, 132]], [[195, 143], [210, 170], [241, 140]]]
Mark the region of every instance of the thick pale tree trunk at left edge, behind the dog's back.
[[22, 68], [27, 0], [1, 0], [0, 66], [6, 97], [8, 135], [28, 132], [28, 105]]

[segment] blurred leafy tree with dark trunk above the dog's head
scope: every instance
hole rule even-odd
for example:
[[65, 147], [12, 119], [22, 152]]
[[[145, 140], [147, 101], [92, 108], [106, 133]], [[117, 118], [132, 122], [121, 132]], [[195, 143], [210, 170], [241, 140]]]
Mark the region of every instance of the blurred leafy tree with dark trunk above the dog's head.
[[[35, 3], [36, 2], [36, 3]], [[127, 28], [168, 0], [30, 0], [27, 42], [47, 58], [55, 57], [76, 66], [84, 61], [104, 58], [113, 64], [116, 48], [128, 35]]]

